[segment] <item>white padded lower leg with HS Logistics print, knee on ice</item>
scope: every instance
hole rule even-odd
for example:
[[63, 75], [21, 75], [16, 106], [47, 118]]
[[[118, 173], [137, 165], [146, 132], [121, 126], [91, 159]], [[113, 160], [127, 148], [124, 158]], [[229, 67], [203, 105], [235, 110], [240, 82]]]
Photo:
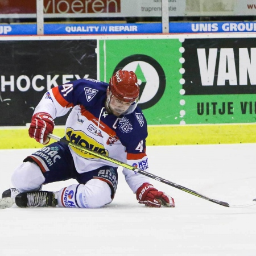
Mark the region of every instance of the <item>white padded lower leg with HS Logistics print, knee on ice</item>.
[[111, 203], [111, 189], [105, 181], [92, 179], [60, 189], [57, 200], [59, 207], [100, 208]]

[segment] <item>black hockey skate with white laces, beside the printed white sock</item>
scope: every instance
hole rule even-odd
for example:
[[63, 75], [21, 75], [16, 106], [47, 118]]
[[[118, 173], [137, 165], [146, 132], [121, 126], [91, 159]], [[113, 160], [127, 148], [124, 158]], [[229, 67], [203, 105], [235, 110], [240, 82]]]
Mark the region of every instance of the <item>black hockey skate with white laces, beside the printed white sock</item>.
[[18, 207], [55, 207], [57, 199], [53, 192], [24, 192], [15, 197], [15, 203]]

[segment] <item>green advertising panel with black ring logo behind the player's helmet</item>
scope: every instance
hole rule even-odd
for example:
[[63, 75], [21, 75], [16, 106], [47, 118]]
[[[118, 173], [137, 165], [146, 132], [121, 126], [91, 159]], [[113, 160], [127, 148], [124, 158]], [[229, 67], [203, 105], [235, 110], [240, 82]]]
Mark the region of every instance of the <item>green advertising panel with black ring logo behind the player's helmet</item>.
[[134, 71], [148, 124], [179, 124], [180, 47], [178, 39], [100, 40], [100, 80], [108, 82], [118, 69]]

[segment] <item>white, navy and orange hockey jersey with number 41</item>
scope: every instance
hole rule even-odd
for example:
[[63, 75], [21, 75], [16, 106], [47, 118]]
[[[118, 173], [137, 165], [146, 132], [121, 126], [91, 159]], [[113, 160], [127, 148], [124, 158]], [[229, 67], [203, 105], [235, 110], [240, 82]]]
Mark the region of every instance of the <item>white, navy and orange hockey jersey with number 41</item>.
[[[116, 117], [105, 109], [108, 84], [94, 79], [80, 79], [60, 85], [44, 94], [34, 113], [46, 112], [53, 119], [69, 113], [65, 138], [99, 152], [148, 170], [146, 155], [147, 123], [138, 107], [133, 113]], [[69, 147], [77, 172], [84, 173], [114, 163], [97, 158], [77, 148]], [[135, 193], [148, 177], [123, 169], [131, 190]]]

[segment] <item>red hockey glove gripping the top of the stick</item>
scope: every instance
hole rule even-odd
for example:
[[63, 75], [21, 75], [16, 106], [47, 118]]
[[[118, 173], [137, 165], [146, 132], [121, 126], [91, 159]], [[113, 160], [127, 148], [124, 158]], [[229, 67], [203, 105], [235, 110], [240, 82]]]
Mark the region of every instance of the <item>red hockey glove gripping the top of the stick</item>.
[[31, 138], [34, 138], [37, 142], [42, 144], [48, 144], [49, 138], [47, 135], [52, 133], [54, 128], [54, 122], [48, 113], [36, 113], [32, 116], [30, 129], [28, 134]]

